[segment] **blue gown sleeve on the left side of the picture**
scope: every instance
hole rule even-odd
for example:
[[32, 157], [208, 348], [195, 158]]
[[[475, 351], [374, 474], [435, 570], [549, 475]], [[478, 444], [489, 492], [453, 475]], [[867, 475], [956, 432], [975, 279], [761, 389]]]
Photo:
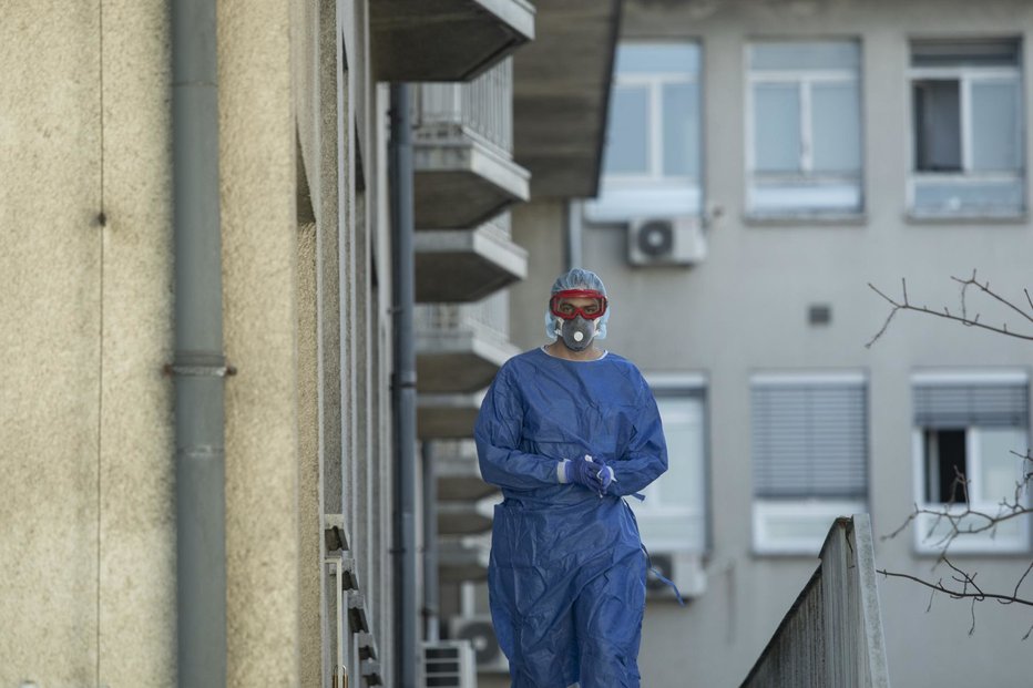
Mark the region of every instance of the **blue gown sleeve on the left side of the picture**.
[[528, 490], [560, 482], [559, 462], [520, 450], [524, 401], [503, 367], [488, 389], [477, 417], [477, 441], [481, 478], [500, 487]]

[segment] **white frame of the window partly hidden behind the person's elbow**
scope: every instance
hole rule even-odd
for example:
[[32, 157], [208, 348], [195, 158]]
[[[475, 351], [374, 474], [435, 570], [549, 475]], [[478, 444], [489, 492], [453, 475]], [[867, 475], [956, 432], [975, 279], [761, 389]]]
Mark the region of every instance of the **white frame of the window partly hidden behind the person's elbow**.
[[[646, 485], [642, 490], [645, 496], [644, 501], [630, 499], [627, 503], [635, 513], [638, 522], [640, 533], [650, 552], [686, 552], [692, 554], [705, 554], [708, 548], [708, 512], [709, 505], [707, 497], [709, 490], [707, 482], [709, 480], [709, 456], [707, 442], [707, 379], [702, 374], [677, 373], [677, 374], [647, 374], [646, 382], [653, 389], [654, 397], [678, 397], [699, 399], [699, 431], [700, 431], [700, 475], [699, 478], [699, 505], [686, 506], [684, 504], [664, 504], [658, 499], [656, 483]], [[661, 409], [663, 412], [663, 410]], [[663, 481], [666, 475], [661, 475], [658, 480]], [[686, 533], [684, 537], [669, 537], [664, 533], [669, 533], [673, 528], [682, 528]]]

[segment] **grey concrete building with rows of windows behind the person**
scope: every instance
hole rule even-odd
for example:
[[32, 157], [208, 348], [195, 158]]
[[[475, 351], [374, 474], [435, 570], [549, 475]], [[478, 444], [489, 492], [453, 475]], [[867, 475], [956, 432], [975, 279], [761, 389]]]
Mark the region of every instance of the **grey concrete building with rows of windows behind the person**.
[[[974, 507], [1014, 499], [1030, 341], [899, 312], [865, 345], [891, 308], [869, 283], [957, 314], [978, 269], [1029, 314], [1031, 28], [1012, 0], [625, 3], [600, 194], [515, 210], [535, 260], [510, 308], [539, 346], [565, 256], [599, 271], [603, 343], [654, 383], [671, 470], [636, 509], [691, 600], [651, 597], [644, 686], [739, 685], [835, 516], [870, 513], [878, 567], [949, 583], [942, 524], [880, 536], [948, 503], [954, 466]], [[1011, 593], [1030, 537], [1025, 516], [951, 552]], [[1017, 605], [878, 585], [893, 685], [1029, 685]]]

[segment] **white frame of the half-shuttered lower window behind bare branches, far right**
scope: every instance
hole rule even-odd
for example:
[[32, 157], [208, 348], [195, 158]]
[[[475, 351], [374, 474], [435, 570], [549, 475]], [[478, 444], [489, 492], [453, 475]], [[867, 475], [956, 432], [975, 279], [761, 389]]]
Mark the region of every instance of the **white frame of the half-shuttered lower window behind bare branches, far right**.
[[[1026, 371], [930, 371], [920, 372], [911, 376], [911, 389], [919, 384], [1008, 384], [1024, 383], [1029, 384], [1030, 377]], [[1026, 409], [1029, 414], [1029, 409]], [[927, 481], [929, 480], [925, 466], [925, 443], [923, 432], [925, 428], [914, 427], [911, 431], [911, 465], [912, 465], [912, 484], [914, 486], [914, 503], [919, 509], [944, 510], [947, 506], [941, 502], [929, 502], [925, 499]], [[961, 430], [961, 428], [959, 428]], [[1024, 428], [1026, 433], [1026, 443], [1030, 441], [1030, 429]], [[980, 428], [969, 425], [965, 431], [965, 479], [970, 482], [969, 495], [974, 511], [993, 513], [998, 507], [1000, 497], [989, 500], [983, 499], [982, 494], [982, 450], [980, 443]], [[972, 499], [972, 495], [976, 495]], [[1002, 495], [1009, 496], [1012, 495]], [[1026, 492], [1026, 502], [1030, 504], [1029, 492]], [[961, 514], [966, 506], [963, 503], [952, 505], [948, 511], [950, 514]], [[1031, 548], [1031, 517], [1029, 515], [1015, 518], [1017, 532], [1013, 537], [1002, 536], [1000, 533], [981, 533], [965, 534], [957, 537], [950, 545], [950, 552], [955, 554], [1023, 554]], [[935, 516], [932, 514], [918, 514], [912, 525], [912, 543], [914, 551], [919, 554], [939, 555], [943, 551], [942, 536], [930, 536], [930, 528], [933, 527]]]

